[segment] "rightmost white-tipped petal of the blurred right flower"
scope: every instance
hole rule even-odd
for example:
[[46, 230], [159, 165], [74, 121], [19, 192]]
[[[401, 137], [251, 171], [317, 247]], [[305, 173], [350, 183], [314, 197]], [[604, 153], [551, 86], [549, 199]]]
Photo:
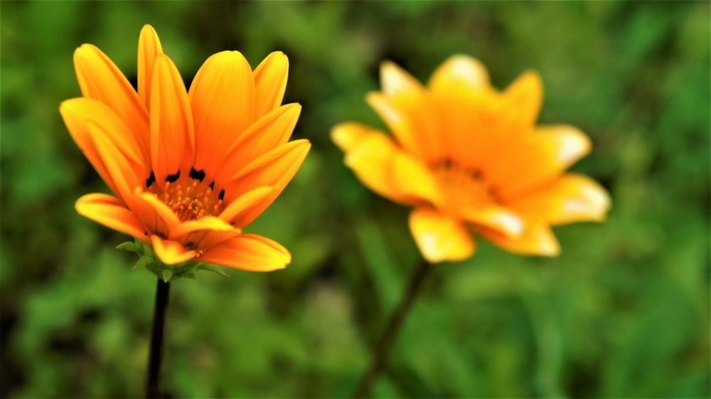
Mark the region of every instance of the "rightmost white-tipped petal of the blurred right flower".
[[537, 215], [552, 225], [602, 221], [610, 198], [602, 186], [587, 176], [565, 174], [550, 185], [511, 204], [520, 213]]

